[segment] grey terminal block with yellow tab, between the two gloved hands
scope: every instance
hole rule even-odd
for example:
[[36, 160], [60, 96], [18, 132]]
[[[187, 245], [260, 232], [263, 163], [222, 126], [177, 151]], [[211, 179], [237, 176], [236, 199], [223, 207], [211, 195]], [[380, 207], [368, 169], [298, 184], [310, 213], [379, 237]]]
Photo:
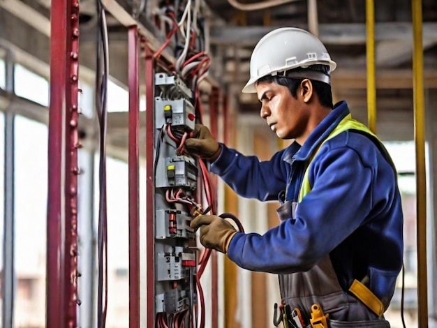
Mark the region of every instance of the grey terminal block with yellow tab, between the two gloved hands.
[[156, 170], [156, 188], [184, 187], [197, 188], [198, 167], [193, 158], [175, 156], [165, 158], [165, 167], [158, 165]]

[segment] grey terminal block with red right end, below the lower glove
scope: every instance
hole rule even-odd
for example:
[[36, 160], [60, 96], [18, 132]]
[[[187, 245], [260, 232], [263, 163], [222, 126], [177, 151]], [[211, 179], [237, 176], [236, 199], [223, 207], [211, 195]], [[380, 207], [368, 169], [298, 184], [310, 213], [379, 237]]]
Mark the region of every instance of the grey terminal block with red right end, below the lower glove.
[[156, 279], [158, 281], [189, 278], [191, 268], [195, 267], [194, 253], [184, 252], [182, 246], [172, 248], [172, 252], [158, 253], [156, 258]]

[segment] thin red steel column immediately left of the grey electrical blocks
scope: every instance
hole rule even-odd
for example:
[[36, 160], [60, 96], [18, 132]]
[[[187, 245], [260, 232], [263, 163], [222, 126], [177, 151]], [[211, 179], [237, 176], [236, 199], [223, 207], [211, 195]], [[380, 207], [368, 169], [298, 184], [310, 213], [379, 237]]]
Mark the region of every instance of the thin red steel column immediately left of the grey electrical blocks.
[[155, 327], [155, 180], [154, 180], [154, 56], [146, 50], [146, 259], [147, 327]]

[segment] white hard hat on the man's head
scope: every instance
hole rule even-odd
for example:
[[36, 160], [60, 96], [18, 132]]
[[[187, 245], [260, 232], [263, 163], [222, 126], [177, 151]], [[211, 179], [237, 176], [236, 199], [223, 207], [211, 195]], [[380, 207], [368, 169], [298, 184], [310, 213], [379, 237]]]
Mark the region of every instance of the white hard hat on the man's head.
[[[274, 29], [263, 36], [255, 46], [251, 56], [251, 78], [242, 92], [256, 92], [254, 85], [260, 77], [317, 64], [327, 65], [331, 71], [336, 68], [325, 45], [316, 36], [295, 27]], [[329, 77], [327, 81], [329, 83]], [[327, 81], [323, 80], [323, 82]]]

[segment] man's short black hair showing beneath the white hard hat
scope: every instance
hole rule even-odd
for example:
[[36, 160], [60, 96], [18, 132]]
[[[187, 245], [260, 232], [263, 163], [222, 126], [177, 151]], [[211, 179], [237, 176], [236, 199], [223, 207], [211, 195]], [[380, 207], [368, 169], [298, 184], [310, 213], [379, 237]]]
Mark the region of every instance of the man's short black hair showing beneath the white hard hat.
[[[317, 67], [313, 67], [317, 66]], [[299, 70], [304, 73], [305, 70], [316, 70], [318, 72], [323, 72], [326, 75], [329, 76], [329, 70], [326, 70], [329, 68], [329, 66], [325, 65], [313, 65], [310, 66], [310, 68], [297, 68], [293, 71]], [[287, 75], [287, 72], [285, 73]], [[287, 77], [287, 76], [281, 76], [281, 75], [267, 75], [265, 77], [260, 77], [260, 79], [256, 83], [260, 82], [267, 82], [272, 83], [275, 82], [276, 84], [282, 85], [284, 87], [288, 87], [290, 90], [291, 95], [294, 98], [297, 98], [297, 88], [300, 85], [300, 82], [302, 82], [303, 78], [295, 78], [295, 77]], [[311, 83], [313, 84], [314, 91], [316, 92], [318, 96], [318, 100], [320, 102], [320, 105], [323, 105], [325, 107], [334, 108], [334, 105], [332, 103], [332, 90], [331, 85], [327, 84], [325, 82], [320, 82], [316, 80], [311, 80]]]

